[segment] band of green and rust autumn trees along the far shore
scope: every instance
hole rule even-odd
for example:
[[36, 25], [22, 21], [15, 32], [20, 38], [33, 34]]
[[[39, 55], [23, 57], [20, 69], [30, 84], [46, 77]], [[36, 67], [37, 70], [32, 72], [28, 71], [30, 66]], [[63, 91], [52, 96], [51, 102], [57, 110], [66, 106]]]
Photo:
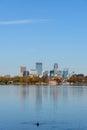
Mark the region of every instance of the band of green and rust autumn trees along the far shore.
[[72, 75], [71, 77], [64, 79], [62, 77], [52, 77], [49, 76], [15, 76], [15, 77], [0, 77], [0, 85], [48, 85], [48, 84], [87, 84], [87, 76], [82, 74], [80, 75]]

